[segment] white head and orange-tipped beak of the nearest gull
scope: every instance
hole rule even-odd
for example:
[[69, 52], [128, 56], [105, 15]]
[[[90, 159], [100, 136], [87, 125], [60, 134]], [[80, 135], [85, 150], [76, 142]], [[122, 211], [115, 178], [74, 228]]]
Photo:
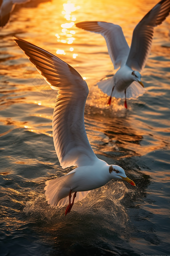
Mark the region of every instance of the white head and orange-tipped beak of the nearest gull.
[[132, 186], [135, 186], [135, 183], [126, 177], [124, 170], [118, 165], [109, 165], [108, 171], [111, 175], [111, 179], [120, 179], [125, 180], [130, 183]]

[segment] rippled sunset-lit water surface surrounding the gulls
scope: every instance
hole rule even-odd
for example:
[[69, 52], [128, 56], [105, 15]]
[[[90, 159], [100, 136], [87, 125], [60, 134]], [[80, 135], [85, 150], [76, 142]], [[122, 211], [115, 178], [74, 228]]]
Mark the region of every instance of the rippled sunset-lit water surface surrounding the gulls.
[[[170, 254], [170, 19], [155, 30], [141, 73], [146, 92], [128, 100], [128, 110], [121, 100], [107, 107], [107, 97], [96, 86], [114, 73], [104, 39], [73, 25], [65, 32], [61, 27], [72, 18], [113, 22], [122, 26], [130, 45], [135, 24], [154, 4], [26, 4], [15, 9], [9, 25], [0, 31], [0, 256]], [[71, 170], [62, 170], [53, 147], [56, 91], [31, 66], [13, 36], [53, 54], [64, 50], [57, 56], [86, 77], [85, 129], [92, 149], [108, 164], [121, 166], [136, 187], [112, 180], [91, 191], [66, 216], [65, 208], [47, 205], [45, 181]], [[69, 41], [70, 37], [74, 39]]]

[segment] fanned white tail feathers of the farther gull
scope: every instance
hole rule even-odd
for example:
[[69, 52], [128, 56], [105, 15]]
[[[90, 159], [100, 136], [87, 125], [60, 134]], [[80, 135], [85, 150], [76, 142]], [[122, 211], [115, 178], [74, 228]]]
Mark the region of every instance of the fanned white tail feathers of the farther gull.
[[[108, 96], [111, 95], [111, 91], [113, 88], [113, 77], [108, 78], [106, 80], [102, 80], [97, 83], [98, 88], [106, 93]], [[136, 81], [132, 82], [130, 86], [126, 89], [126, 98], [134, 99], [141, 96], [144, 93], [145, 89]], [[115, 98], [125, 98], [124, 91], [117, 91], [116, 87], [114, 87], [112, 92], [112, 97]]]

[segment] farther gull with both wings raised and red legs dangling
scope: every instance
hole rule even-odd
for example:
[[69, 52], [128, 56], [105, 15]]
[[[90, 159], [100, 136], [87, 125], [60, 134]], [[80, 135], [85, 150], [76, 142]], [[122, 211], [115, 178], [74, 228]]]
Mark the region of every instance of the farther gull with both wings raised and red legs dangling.
[[154, 27], [160, 25], [169, 12], [169, 0], [161, 0], [155, 5], [135, 27], [130, 49], [118, 25], [97, 21], [75, 24], [78, 28], [101, 34], [114, 69], [120, 67], [113, 77], [97, 83], [101, 91], [110, 95], [107, 105], [111, 104], [111, 97], [125, 98], [124, 107], [127, 108], [126, 98], [137, 98], [144, 93], [139, 72], [149, 55]]

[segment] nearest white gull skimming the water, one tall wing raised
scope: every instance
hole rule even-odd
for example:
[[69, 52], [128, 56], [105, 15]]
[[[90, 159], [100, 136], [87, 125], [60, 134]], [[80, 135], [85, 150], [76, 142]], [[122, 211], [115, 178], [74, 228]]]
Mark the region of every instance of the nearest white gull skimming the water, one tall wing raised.
[[60, 166], [75, 167], [68, 174], [45, 182], [48, 204], [58, 208], [67, 205], [66, 215], [74, 202], [81, 201], [90, 190], [111, 179], [135, 186], [121, 167], [98, 159], [89, 144], [84, 126], [88, 87], [80, 74], [47, 51], [22, 39], [14, 38], [14, 41], [50, 87], [58, 90], [52, 117], [53, 144]]

